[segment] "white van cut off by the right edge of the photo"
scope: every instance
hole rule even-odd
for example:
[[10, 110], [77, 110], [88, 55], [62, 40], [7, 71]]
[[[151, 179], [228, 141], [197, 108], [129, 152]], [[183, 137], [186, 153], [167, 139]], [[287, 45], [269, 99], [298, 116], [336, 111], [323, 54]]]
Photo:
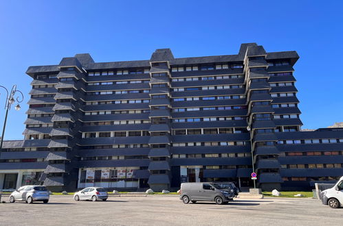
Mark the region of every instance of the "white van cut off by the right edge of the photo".
[[322, 203], [331, 208], [340, 208], [343, 205], [343, 177], [332, 188], [323, 190], [321, 193]]

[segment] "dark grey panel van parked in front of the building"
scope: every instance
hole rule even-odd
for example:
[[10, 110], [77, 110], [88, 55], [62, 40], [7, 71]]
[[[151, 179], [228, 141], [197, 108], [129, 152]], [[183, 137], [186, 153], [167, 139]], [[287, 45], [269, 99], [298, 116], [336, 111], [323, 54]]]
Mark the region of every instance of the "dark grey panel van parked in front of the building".
[[196, 203], [197, 201], [214, 201], [217, 204], [225, 204], [234, 198], [234, 192], [222, 190], [212, 183], [182, 183], [180, 200], [185, 204]]

